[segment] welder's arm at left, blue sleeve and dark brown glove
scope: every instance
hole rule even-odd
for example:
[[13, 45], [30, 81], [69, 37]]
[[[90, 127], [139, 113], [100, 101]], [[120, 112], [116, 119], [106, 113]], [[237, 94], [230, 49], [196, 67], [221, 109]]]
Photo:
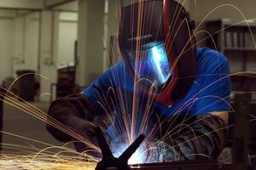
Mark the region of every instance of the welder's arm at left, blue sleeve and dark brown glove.
[[70, 134], [64, 132], [63, 129], [56, 128], [51, 122], [55, 119], [66, 127], [82, 134], [86, 138], [94, 136], [93, 127], [101, 125], [107, 128], [110, 123], [106, 116], [106, 109], [102, 109], [101, 105], [106, 104], [106, 93], [108, 92], [109, 81], [108, 72], [102, 75], [84, 89], [81, 94], [72, 94], [65, 98], [56, 99], [51, 103], [48, 111], [47, 129], [55, 139], [63, 142], [69, 142], [73, 139]]

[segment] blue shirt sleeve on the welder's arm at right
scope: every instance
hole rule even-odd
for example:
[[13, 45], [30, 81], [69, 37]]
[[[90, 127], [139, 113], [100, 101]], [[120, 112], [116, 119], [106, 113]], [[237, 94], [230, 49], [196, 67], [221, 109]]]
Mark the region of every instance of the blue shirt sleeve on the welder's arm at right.
[[200, 90], [193, 96], [191, 107], [193, 116], [212, 111], [230, 111], [230, 66], [223, 54], [212, 49], [204, 49], [197, 64], [197, 81]]

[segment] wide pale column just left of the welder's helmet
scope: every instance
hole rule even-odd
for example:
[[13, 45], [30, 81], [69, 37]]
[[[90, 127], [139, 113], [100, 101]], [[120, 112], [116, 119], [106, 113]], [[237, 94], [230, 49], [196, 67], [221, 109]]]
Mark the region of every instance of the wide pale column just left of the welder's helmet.
[[76, 83], [87, 86], [103, 70], [104, 0], [79, 0]]

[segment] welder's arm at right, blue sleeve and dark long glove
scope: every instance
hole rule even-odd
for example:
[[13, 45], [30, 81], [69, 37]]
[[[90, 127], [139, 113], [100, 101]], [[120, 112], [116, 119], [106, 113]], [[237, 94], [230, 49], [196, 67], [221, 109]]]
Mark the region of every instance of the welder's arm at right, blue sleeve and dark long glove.
[[[215, 59], [215, 61], [214, 61]], [[216, 62], [216, 60], [218, 62]], [[201, 85], [190, 115], [196, 120], [185, 126], [178, 136], [156, 143], [158, 161], [215, 159], [224, 148], [230, 111], [230, 68], [223, 54], [208, 51], [200, 63]], [[184, 127], [182, 126], [182, 127]], [[173, 136], [175, 136], [173, 138]], [[153, 154], [157, 156], [157, 154]], [[150, 156], [149, 156], [150, 157]]]

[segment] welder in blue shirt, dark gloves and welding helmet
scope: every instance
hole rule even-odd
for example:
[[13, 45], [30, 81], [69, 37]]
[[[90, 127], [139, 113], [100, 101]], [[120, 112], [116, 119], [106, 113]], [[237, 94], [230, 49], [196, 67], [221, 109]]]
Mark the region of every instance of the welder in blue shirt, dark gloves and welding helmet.
[[[152, 135], [145, 162], [216, 159], [227, 134], [230, 69], [223, 54], [196, 47], [194, 27], [174, 0], [122, 8], [123, 59], [82, 94], [56, 99], [49, 116], [92, 140], [90, 129], [102, 121], [113, 148], [132, 135]], [[74, 140], [55, 127], [48, 130], [61, 141]]]

